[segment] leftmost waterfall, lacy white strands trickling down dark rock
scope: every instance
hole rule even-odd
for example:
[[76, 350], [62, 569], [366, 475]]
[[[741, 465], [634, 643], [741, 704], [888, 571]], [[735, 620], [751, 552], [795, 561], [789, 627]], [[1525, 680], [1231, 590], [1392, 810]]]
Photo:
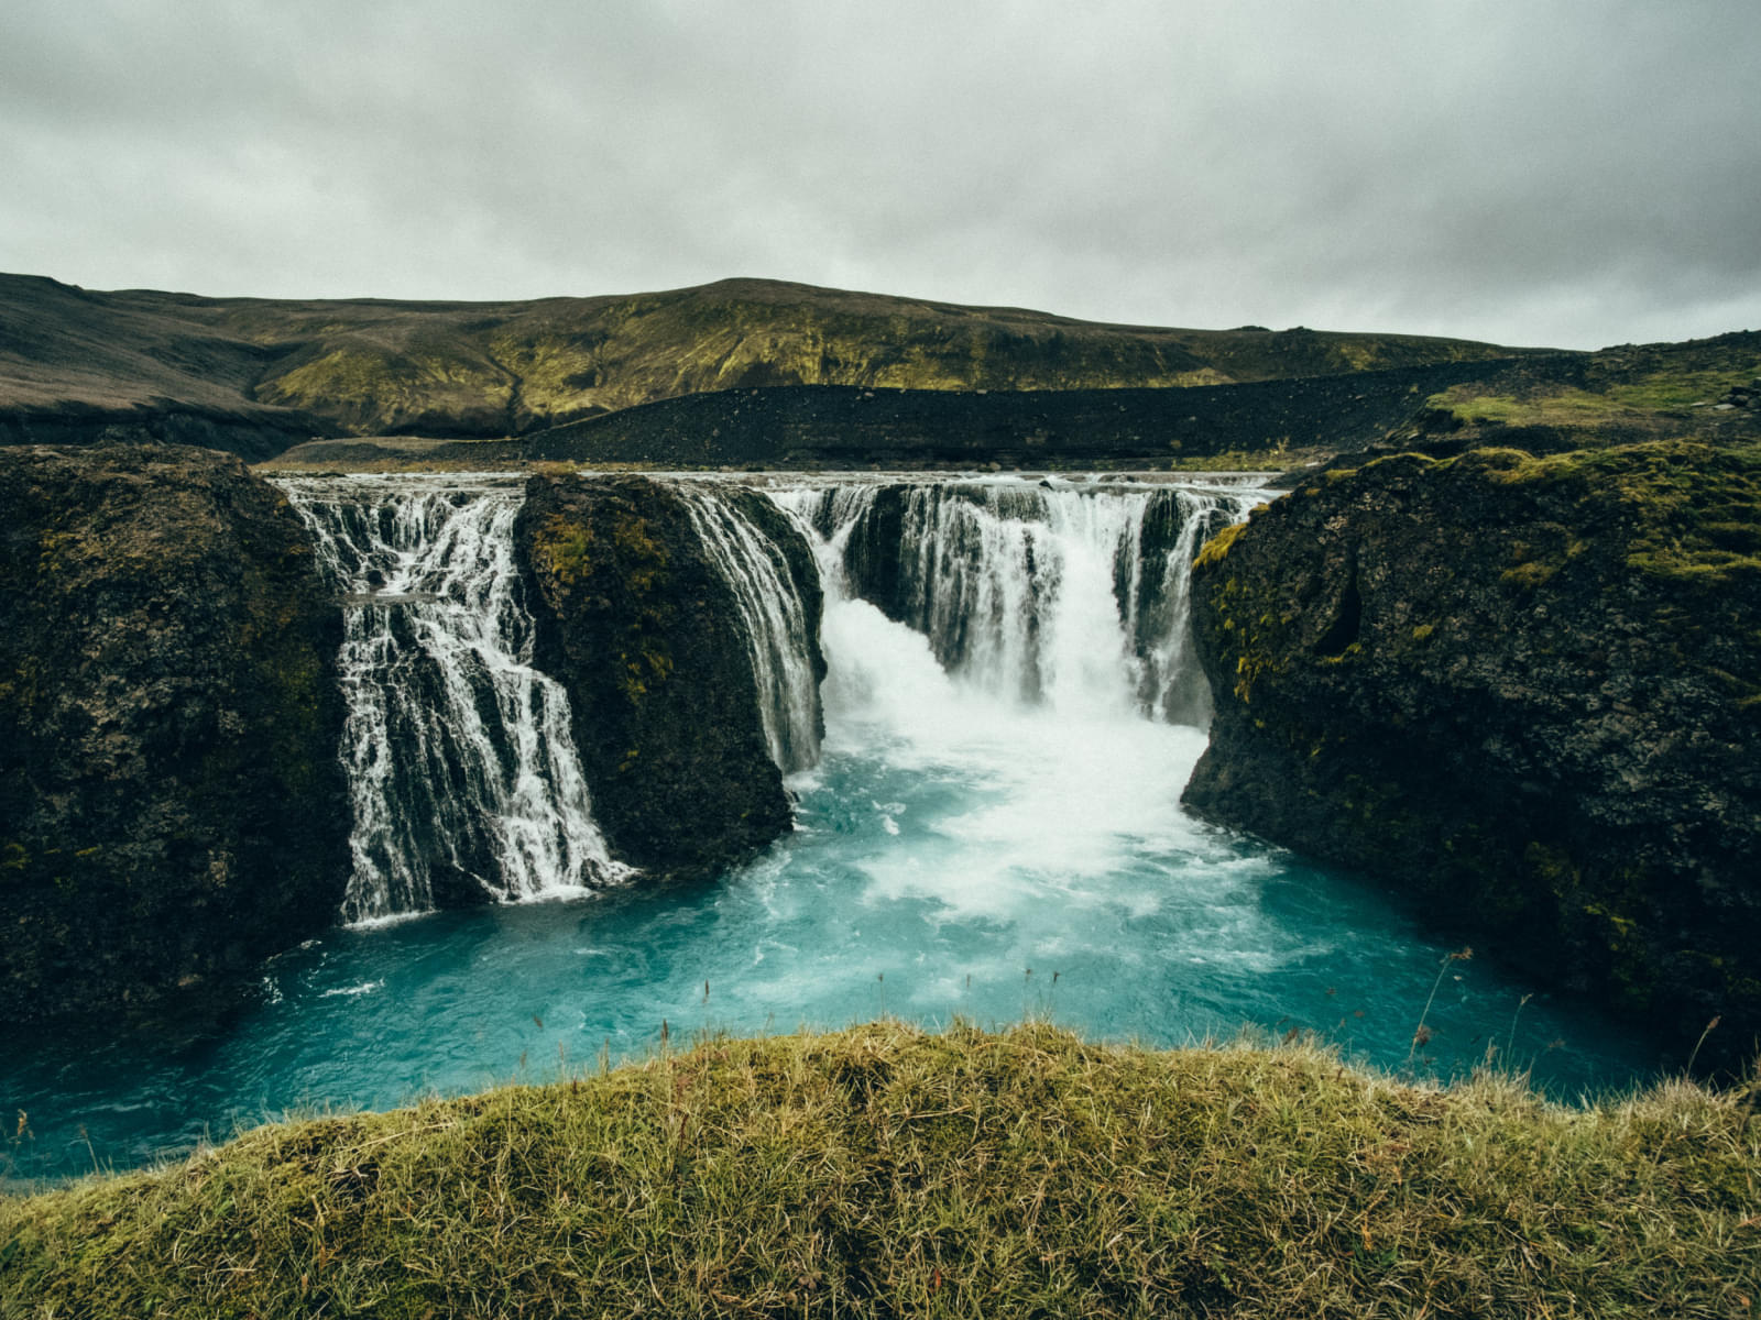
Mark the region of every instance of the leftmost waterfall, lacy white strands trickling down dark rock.
[[343, 593], [350, 922], [615, 882], [569, 699], [532, 667], [514, 565], [523, 480], [285, 477]]

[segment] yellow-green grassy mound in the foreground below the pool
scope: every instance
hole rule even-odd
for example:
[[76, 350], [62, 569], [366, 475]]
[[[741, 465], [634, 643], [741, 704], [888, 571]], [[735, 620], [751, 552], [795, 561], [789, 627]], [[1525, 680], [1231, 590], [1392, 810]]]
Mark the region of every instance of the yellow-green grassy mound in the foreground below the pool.
[[1757, 1156], [1685, 1084], [884, 1023], [0, 1199], [0, 1315], [1742, 1316]]

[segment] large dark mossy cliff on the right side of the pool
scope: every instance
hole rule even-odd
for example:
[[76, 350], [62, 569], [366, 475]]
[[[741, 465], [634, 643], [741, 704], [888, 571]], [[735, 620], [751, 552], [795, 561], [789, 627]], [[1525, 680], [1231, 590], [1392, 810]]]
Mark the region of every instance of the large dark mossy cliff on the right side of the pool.
[[1185, 801], [1738, 1061], [1761, 1031], [1761, 449], [1335, 472], [1213, 539]]

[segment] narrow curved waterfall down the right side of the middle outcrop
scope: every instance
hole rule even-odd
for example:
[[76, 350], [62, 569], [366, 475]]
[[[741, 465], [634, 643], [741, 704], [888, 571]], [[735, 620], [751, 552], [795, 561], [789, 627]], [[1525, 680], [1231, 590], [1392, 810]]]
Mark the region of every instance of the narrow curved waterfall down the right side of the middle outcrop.
[[[682, 480], [673, 488], [685, 502], [697, 540], [734, 593], [752, 676], [759, 690], [759, 718], [771, 760], [784, 774], [819, 760], [819, 678], [808, 658], [807, 605], [794, 586], [782, 549], [715, 484]], [[750, 496], [748, 496], [750, 498]]]

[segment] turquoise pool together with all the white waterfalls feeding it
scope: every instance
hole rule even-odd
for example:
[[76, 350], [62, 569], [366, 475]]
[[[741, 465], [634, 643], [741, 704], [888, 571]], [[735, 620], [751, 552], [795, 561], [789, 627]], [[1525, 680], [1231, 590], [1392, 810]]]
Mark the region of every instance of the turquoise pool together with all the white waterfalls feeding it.
[[[1044, 1014], [1162, 1045], [1250, 1024], [1439, 1077], [1495, 1042], [1495, 1061], [1562, 1096], [1650, 1067], [1627, 1024], [1536, 994], [1495, 957], [1451, 959], [1381, 889], [1180, 810], [1205, 746], [1182, 686], [1203, 692], [1187, 565], [1259, 489], [768, 480], [814, 528], [826, 584], [826, 737], [789, 776], [794, 832], [713, 885], [329, 933], [275, 959], [262, 1001], [203, 1049], [139, 1031], [0, 1049], [0, 1105], [35, 1132], [0, 1153], [0, 1181], [151, 1162], [287, 1105], [382, 1109], [643, 1054], [662, 1021], [757, 1033]], [[747, 584], [752, 635], [792, 635], [791, 579], [726, 512], [754, 512], [748, 498], [676, 484], [736, 597]], [[467, 875], [502, 896], [613, 875], [562, 693], [525, 660], [518, 480], [284, 486], [350, 602], [347, 755], [357, 797], [377, 794], [357, 806], [350, 915], [428, 906]], [[787, 757], [805, 744], [771, 697]]]

